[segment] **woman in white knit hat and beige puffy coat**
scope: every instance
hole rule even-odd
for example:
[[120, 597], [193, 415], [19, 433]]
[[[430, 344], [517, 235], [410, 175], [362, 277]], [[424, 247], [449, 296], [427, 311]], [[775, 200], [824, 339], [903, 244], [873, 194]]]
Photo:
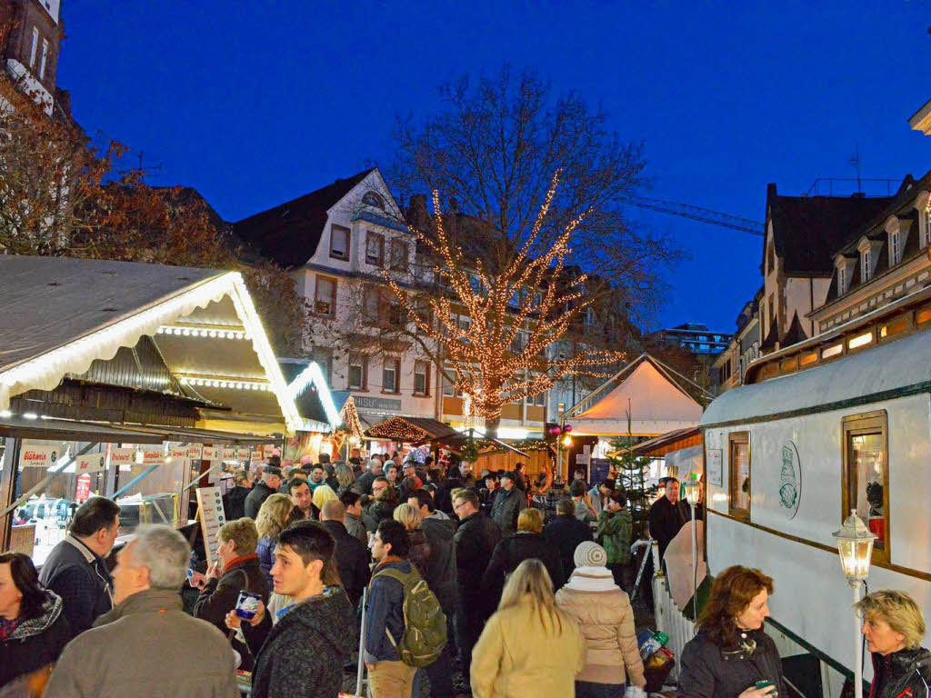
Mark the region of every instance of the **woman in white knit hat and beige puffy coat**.
[[575, 698], [645, 697], [634, 611], [606, 567], [608, 554], [586, 541], [575, 548], [573, 559], [575, 570], [557, 592], [556, 605], [578, 621], [586, 640], [586, 665], [575, 677]]

